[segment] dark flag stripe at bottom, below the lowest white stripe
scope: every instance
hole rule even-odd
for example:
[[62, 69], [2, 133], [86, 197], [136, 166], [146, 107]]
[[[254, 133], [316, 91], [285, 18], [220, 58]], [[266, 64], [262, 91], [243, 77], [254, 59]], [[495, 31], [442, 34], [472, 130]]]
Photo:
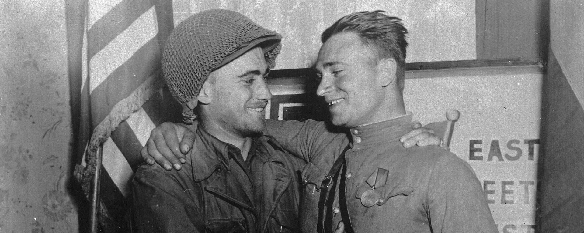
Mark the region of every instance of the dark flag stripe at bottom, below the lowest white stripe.
[[105, 169], [101, 170], [100, 175], [100, 199], [110, 214], [110, 223], [117, 228], [116, 232], [130, 232], [128, 229], [128, 211], [130, 211], [130, 202], [121, 194], [116, 183], [113, 182], [110, 175]]

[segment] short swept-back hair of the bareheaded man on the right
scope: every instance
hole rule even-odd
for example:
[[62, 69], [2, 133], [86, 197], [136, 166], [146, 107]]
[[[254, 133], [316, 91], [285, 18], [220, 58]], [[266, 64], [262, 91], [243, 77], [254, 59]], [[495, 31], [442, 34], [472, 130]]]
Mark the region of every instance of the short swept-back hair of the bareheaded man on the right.
[[322, 43], [338, 33], [356, 33], [361, 43], [370, 48], [381, 59], [393, 58], [397, 62], [397, 81], [400, 91], [404, 90], [405, 53], [408, 30], [398, 17], [388, 16], [383, 10], [355, 12], [337, 20], [321, 36]]

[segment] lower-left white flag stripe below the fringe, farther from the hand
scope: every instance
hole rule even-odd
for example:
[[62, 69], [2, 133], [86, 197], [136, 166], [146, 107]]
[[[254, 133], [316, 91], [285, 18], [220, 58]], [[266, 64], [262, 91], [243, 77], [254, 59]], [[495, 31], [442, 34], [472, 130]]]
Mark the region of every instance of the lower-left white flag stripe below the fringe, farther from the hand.
[[126, 160], [116, 143], [110, 137], [103, 143], [103, 168], [107, 171], [124, 197], [131, 194], [130, 178], [134, 175], [130, 164]]

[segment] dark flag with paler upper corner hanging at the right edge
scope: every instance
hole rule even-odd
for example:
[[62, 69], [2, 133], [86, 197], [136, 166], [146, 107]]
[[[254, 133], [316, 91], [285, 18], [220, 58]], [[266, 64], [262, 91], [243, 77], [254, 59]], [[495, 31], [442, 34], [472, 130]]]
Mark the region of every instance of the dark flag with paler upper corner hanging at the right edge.
[[584, 232], [584, 5], [550, 1], [537, 232]]

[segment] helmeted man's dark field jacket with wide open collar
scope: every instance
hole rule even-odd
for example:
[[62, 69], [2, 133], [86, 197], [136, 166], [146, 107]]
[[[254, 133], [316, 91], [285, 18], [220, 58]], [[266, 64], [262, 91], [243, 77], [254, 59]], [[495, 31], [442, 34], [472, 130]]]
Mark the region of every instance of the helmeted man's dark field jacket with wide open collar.
[[304, 161], [268, 136], [241, 151], [200, 127], [180, 171], [142, 164], [133, 180], [134, 232], [298, 232]]

